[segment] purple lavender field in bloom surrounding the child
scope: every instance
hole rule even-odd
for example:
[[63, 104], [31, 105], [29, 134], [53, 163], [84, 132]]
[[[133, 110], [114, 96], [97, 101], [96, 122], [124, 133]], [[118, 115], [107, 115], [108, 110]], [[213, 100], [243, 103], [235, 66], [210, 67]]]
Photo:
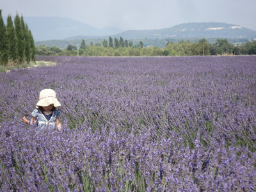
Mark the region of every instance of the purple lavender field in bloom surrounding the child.
[[[256, 56], [36, 60], [0, 74], [0, 191], [256, 191]], [[61, 132], [21, 122], [44, 88]]]

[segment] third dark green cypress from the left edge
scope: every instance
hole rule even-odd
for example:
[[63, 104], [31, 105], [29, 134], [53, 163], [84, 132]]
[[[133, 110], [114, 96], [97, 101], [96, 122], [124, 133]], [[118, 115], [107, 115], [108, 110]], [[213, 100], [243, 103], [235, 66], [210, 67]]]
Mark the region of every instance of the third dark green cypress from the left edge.
[[15, 16], [14, 19], [14, 26], [15, 26], [15, 34], [17, 37], [17, 42], [18, 42], [18, 49], [17, 49], [17, 59], [18, 59], [18, 63], [19, 65], [21, 65], [22, 61], [24, 60], [24, 40], [23, 40], [23, 30], [20, 24], [20, 17], [18, 15], [18, 13]]

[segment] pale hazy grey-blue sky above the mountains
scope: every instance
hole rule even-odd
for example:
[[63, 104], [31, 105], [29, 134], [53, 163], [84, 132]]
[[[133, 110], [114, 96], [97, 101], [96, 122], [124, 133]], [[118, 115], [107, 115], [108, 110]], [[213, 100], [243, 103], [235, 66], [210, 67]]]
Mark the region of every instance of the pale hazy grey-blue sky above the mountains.
[[4, 16], [57, 16], [97, 28], [162, 29], [227, 22], [256, 30], [256, 0], [1, 0]]

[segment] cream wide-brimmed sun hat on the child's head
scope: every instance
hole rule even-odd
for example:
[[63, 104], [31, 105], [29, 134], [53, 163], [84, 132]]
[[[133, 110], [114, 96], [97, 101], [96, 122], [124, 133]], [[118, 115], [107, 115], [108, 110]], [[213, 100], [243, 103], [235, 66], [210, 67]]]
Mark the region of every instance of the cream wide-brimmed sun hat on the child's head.
[[61, 106], [60, 102], [56, 98], [56, 93], [52, 89], [45, 89], [42, 90], [39, 94], [39, 100], [36, 104], [36, 108], [39, 106], [47, 107], [49, 105], [53, 104], [55, 108], [58, 108]]

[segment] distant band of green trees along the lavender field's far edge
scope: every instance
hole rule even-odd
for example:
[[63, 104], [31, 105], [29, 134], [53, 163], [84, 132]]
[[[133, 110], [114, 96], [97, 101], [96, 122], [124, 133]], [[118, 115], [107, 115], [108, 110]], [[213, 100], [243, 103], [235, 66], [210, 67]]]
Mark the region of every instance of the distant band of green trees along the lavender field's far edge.
[[217, 39], [214, 44], [209, 44], [205, 38], [198, 42], [181, 40], [178, 43], [166, 41], [166, 46], [145, 47], [143, 42], [134, 45], [132, 41], [118, 38], [104, 39], [102, 44], [86, 45], [82, 40], [80, 46], [68, 45], [66, 49], [57, 46], [47, 47], [40, 45], [36, 47], [36, 54], [49, 56], [207, 56], [207, 55], [239, 55], [256, 54], [256, 41], [234, 45], [227, 39]]

